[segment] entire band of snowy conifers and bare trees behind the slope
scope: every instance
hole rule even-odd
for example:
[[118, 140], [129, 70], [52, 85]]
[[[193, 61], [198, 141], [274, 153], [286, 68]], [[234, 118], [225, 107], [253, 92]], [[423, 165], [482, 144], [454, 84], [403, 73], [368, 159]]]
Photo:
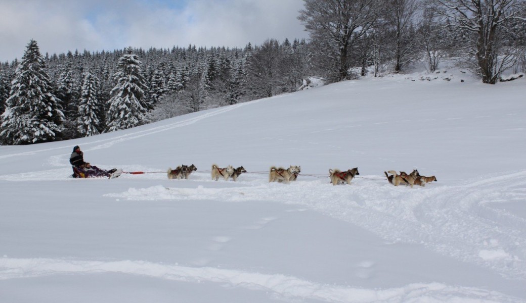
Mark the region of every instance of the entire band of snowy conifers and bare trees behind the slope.
[[448, 58], [494, 84], [526, 70], [524, 0], [304, 0], [309, 41], [245, 48], [126, 48], [45, 54], [31, 40], [0, 64], [0, 143], [127, 129], [371, 72], [436, 70]]

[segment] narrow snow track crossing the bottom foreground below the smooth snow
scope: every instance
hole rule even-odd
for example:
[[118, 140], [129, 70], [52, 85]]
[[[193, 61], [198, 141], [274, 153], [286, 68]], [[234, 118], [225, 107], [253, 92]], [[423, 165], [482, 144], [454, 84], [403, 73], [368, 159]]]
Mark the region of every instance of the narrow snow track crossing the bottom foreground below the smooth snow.
[[210, 281], [229, 287], [274, 292], [284, 299], [326, 302], [521, 302], [496, 291], [441, 283], [414, 283], [398, 288], [363, 289], [312, 283], [294, 276], [249, 273], [212, 267], [186, 267], [145, 261], [83, 261], [68, 259], [0, 258], [0, 279], [59, 274], [121, 273], [168, 280]]

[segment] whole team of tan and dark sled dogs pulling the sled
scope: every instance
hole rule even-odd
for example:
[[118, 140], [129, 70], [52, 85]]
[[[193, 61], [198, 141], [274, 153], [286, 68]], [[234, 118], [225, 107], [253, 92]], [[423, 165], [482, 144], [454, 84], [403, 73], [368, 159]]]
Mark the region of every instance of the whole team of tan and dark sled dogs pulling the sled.
[[[194, 171], [197, 171], [194, 164], [180, 165], [177, 166], [175, 170], [169, 168], [167, 171], [168, 179], [188, 179], [190, 174]], [[219, 177], [222, 177], [225, 181], [228, 181], [230, 178], [236, 181], [239, 175], [246, 172], [247, 170], [243, 166], [234, 169], [234, 166], [232, 165], [228, 165], [226, 168], [219, 168], [217, 164], [213, 164], [211, 169], [212, 180], [215, 181], [219, 180]], [[269, 171], [268, 182], [277, 181], [289, 183], [290, 181], [295, 181], [300, 172], [301, 166], [298, 165], [290, 165], [288, 169], [272, 166]], [[400, 173], [397, 173], [396, 171], [387, 171], [383, 173], [385, 173], [387, 181], [395, 186], [399, 186], [400, 184], [409, 185], [411, 187], [413, 187], [413, 185], [426, 186], [429, 182], [437, 181], [435, 176], [422, 176], [418, 170], [413, 170], [410, 174], [402, 171]], [[351, 184], [352, 179], [359, 174], [358, 168], [349, 169], [343, 172], [338, 169], [329, 169], [329, 177], [332, 185]]]

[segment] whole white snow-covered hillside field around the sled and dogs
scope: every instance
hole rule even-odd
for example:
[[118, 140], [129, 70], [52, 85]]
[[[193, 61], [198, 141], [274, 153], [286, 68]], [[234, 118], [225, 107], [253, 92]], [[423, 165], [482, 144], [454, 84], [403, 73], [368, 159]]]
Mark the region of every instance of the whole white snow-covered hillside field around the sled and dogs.
[[[525, 93], [444, 70], [0, 147], [0, 302], [526, 302]], [[147, 173], [73, 179], [76, 144]], [[438, 182], [383, 174], [414, 168]]]

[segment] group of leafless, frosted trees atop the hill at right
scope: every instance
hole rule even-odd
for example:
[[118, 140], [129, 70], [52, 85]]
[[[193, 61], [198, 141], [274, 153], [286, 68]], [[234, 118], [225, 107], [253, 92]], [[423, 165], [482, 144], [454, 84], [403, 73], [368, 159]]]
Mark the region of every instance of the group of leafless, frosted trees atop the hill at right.
[[331, 82], [403, 71], [425, 60], [434, 71], [456, 59], [484, 83], [526, 69], [524, 0], [304, 0], [299, 20], [310, 33], [317, 74]]

